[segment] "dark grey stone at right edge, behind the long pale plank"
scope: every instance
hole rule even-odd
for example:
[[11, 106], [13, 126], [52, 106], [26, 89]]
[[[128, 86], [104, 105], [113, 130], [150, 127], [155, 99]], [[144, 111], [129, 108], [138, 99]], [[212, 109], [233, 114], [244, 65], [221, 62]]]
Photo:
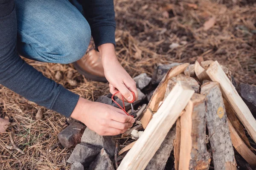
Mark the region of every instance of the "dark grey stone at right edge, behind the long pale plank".
[[238, 91], [253, 117], [256, 118], [256, 86], [241, 83]]

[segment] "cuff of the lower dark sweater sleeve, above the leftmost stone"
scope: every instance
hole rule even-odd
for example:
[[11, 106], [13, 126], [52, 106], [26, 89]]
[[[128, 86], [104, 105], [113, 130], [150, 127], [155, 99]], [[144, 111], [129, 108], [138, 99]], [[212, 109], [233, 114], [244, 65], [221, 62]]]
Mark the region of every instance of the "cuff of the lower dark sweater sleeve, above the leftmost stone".
[[78, 99], [78, 94], [74, 94], [71, 91], [62, 88], [51, 110], [61, 113], [66, 117], [70, 117], [76, 107]]

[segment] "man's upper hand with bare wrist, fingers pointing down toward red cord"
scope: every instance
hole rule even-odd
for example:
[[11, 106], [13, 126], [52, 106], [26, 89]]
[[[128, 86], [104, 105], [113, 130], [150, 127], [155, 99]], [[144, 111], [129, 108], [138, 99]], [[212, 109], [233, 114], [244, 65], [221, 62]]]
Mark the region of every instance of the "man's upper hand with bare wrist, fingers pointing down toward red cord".
[[136, 83], [118, 62], [114, 45], [107, 43], [100, 45], [98, 49], [102, 56], [102, 65], [105, 77], [109, 82], [109, 91], [111, 94], [120, 91], [120, 93], [117, 94], [119, 99], [122, 99], [123, 95], [127, 101], [132, 101], [133, 95], [131, 91], [133, 91], [135, 94], [135, 100], [137, 100], [138, 92]]

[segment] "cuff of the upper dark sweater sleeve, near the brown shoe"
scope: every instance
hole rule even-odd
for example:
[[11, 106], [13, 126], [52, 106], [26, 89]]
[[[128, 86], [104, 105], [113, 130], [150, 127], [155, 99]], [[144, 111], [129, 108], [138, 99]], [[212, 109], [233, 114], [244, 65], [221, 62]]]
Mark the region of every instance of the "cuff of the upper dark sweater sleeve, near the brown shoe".
[[115, 31], [116, 28], [114, 26], [99, 26], [96, 28], [92, 28], [92, 36], [95, 43], [95, 48], [97, 51], [99, 45], [112, 43], [116, 47], [115, 40]]

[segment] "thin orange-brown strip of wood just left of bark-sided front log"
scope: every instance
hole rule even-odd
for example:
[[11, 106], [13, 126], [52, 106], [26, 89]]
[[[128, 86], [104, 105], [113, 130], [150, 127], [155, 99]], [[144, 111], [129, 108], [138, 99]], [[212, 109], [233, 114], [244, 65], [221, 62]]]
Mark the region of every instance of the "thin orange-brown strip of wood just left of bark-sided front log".
[[179, 170], [179, 163], [180, 163], [180, 117], [176, 121], [176, 139], [174, 144], [174, 165], [175, 170]]

